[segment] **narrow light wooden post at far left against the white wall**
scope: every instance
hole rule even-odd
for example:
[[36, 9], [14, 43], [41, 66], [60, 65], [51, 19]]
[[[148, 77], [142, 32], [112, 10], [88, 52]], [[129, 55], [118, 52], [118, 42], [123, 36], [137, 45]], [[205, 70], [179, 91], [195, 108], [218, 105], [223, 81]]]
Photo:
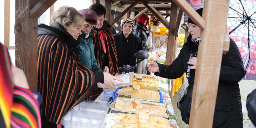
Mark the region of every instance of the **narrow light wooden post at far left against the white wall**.
[[10, 0], [4, 0], [4, 45], [10, 47]]

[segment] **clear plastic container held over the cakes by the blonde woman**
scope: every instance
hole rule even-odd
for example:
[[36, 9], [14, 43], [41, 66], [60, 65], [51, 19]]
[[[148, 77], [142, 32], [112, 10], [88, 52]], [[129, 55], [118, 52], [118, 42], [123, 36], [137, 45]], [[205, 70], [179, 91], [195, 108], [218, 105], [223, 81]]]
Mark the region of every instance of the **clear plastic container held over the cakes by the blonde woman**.
[[[116, 85], [117, 87], [132, 85], [131, 79], [132, 79], [133, 75], [134, 75], [133, 72], [129, 72], [127, 74], [122, 74], [122, 75], [116, 75], [116, 77], [122, 79], [123, 82], [114, 80], [114, 83], [117, 84]], [[108, 87], [108, 86], [106, 86], [105, 84], [102, 84], [102, 83], [101, 83], [101, 87], [102, 88], [110, 88], [110, 87]], [[112, 87], [115, 87], [114, 84], [112, 84]]]

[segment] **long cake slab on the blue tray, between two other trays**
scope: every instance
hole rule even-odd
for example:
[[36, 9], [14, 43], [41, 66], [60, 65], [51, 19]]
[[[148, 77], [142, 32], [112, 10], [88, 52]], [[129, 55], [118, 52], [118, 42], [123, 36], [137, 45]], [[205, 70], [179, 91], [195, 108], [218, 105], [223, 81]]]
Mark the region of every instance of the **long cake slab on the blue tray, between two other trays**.
[[114, 99], [117, 97], [163, 103], [163, 95], [161, 91], [154, 91], [154, 90], [147, 90], [147, 89], [118, 87], [114, 93]]

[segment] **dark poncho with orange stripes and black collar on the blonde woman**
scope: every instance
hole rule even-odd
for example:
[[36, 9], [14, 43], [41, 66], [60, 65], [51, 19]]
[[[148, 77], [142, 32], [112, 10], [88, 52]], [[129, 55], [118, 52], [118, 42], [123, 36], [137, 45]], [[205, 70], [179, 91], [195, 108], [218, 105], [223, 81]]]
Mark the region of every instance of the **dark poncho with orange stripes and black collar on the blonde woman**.
[[51, 26], [39, 25], [38, 29], [38, 91], [43, 97], [41, 116], [59, 124], [104, 80], [102, 71], [94, 72], [77, 61], [72, 47], [79, 41], [59, 24]]

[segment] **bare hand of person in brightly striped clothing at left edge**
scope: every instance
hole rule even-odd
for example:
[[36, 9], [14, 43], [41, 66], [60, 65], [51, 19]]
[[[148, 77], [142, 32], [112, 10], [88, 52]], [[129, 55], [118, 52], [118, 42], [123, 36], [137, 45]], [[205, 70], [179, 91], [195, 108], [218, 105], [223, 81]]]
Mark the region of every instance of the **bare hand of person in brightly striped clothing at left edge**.
[[25, 73], [14, 65], [12, 65], [12, 78], [14, 85], [29, 89]]

